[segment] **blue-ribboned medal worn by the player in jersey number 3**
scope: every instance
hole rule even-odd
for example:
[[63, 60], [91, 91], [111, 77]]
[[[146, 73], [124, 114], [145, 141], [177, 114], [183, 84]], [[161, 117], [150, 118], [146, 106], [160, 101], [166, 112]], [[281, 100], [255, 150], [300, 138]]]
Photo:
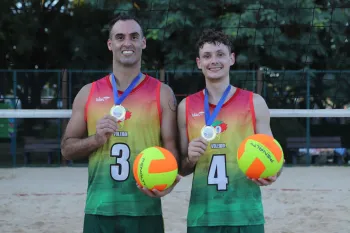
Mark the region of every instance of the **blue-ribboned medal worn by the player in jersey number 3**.
[[130, 85], [126, 88], [126, 90], [119, 96], [118, 95], [118, 87], [117, 82], [115, 80], [115, 76], [112, 73], [112, 86], [113, 86], [113, 95], [114, 95], [114, 106], [110, 110], [110, 114], [117, 118], [117, 120], [123, 121], [126, 114], [126, 109], [121, 105], [123, 100], [130, 94], [130, 92], [134, 89], [140, 78], [142, 77], [142, 73], [140, 72], [134, 80], [130, 83]]

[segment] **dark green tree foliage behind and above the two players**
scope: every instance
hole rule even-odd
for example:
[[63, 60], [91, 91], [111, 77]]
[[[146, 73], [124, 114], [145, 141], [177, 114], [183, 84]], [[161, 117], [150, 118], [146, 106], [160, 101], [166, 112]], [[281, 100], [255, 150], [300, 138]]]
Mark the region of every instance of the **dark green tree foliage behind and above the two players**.
[[[232, 37], [233, 69], [319, 70], [350, 65], [350, 10], [342, 0], [41, 2], [0, 1], [0, 68], [109, 69], [106, 26], [122, 12], [141, 19], [147, 38], [143, 69], [195, 70], [195, 44], [209, 27]], [[45, 83], [40, 80], [28, 83], [38, 93]], [[297, 84], [292, 89], [305, 93], [305, 83]], [[313, 87], [319, 95], [329, 93], [317, 84]], [[344, 88], [329, 90], [348, 96]]]

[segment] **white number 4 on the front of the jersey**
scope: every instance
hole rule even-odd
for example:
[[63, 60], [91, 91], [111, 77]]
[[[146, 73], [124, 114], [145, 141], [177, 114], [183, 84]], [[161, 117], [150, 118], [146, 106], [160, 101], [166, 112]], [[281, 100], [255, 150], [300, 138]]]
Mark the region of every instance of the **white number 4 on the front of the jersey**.
[[209, 166], [208, 184], [216, 185], [218, 191], [227, 190], [228, 176], [225, 155], [213, 155]]

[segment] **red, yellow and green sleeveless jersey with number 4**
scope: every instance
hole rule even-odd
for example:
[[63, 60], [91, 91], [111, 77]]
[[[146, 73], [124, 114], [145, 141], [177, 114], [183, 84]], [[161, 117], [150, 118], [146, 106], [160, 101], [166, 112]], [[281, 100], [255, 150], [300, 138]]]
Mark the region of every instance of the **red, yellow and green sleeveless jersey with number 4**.
[[[212, 114], [215, 105], [210, 105]], [[204, 93], [186, 98], [188, 140], [200, 137], [205, 125]], [[212, 126], [217, 137], [208, 143], [193, 174], [188, 226], [244, 226], [264, 223], [260, 187], [237, 164], [237, 148], [255, 133], [253, 93], [237, 88], [223, 104]]]

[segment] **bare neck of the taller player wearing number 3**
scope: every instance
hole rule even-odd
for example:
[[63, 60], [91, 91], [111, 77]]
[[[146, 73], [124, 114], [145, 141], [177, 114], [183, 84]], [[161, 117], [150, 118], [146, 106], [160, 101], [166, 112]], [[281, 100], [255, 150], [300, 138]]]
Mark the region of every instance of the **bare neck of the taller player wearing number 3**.
[[124, 91], [126, 88], [128, 88], [130, 83], [140, 72], [141, 70], [139, 64], [130, 67], [113, 64], [113, 74], [116, 79], [118, 90]]

